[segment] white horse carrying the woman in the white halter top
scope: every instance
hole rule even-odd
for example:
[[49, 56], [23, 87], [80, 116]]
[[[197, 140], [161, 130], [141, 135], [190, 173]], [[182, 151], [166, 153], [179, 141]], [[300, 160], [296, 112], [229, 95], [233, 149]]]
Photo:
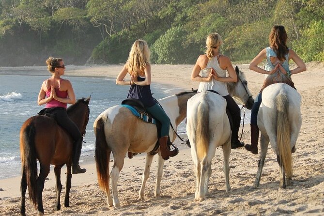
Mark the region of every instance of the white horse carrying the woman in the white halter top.
[[[247, 81], [237, 66], [235, 71], [238, 81], [228, 83], [229, 93], [250, 109], [254, 100], [247, 88]], [[190, 98], [187, 103], [186, 129], [197, 177], [194, 201], [203, 201], [208, 194], [211, 161], [218, 146], [223, 148], [226, 191], [230, 191], [231, 126], [226, 114], [226, 100], [212, 92], [198, 93]]]

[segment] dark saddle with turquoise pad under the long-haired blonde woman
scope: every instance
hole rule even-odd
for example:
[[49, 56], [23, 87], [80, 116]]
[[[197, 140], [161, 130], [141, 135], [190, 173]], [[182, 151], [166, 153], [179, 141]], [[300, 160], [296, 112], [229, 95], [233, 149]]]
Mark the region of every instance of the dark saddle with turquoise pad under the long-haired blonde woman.
[[[131, 108], [129, 108], [129, 109], [132, 111], [132, 113], [135, 116], [139, 117], [144, 122], [154, 123], [156, 125], [157, 134], [160, 134], [162, 124], [158, 120], [154, 119], [154, 117], [145, 109], [144, 104], [140, 100], [138, 100], [136, 98], [127, 98], [122, 101], [122, 105], [130, 106], [131, 108], [134, 108], [139, 113], [139, 115], [135, 114]], [[126, 107], [126, 108], [128, 108], [128, 107]], [[159, 137], [157, 136], [157, 138], [159, 138]], [[169, 143], [171, 143], [170, 137], [168, 138], [168, 145], [169, 145]], [[153, 150], [150, 152], [150, 154], [151, 155], [156, 154], [159, 146], [160, 146], [160, 143], [157, 139], [157, 142], [155, 143], [155, 146], [154, 146]]]

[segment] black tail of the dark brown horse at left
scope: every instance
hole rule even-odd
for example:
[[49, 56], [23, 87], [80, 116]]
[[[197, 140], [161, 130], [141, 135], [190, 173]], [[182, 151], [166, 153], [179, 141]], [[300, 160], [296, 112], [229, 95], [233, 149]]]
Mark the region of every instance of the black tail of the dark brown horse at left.
[[37, 161], [35, 149], [35, 125], [27, 125], [20, 137], [20, 154], [22, 158], [22, 173], [26, 174], [29, 198], [37, 205]]

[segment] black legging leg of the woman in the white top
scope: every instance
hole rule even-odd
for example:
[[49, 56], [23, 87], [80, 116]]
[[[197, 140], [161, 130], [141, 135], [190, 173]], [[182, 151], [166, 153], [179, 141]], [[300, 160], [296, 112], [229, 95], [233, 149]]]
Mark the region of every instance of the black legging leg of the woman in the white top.
[[227, 102], [226, 108], [230, 111], [231, 117], [233, 120], [233, 129], [232, 129], [232, 137], [231, 140], [234, 141], [235, 139], [238, 139], [238, 131], [240, 129], [241, 124], [241, 110], [237, 106], [234, 99], [231, 97], [231, 95], [223, 96]]

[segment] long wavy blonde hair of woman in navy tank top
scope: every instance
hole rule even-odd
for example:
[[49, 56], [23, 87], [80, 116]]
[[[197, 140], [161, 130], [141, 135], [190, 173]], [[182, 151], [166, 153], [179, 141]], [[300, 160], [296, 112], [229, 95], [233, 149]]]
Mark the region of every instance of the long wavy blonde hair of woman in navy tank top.
[[131, 75], [138, 76], [150, 64], [150, 49], [144, 40], [136, 40], [129, 52], [126, 67]]

